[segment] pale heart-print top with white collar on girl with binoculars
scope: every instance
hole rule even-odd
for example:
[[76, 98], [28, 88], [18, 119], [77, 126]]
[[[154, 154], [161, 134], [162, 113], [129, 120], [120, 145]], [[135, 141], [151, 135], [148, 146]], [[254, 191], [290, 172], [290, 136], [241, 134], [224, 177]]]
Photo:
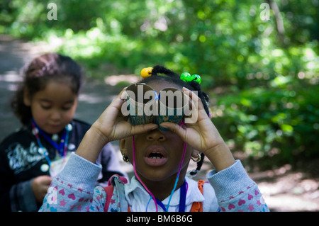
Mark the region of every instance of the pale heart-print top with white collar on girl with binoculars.
[[[101, 166], [72, 154], [65, 169], [52, 180], [52, 184], [45, 196], [39, 211], [85, 211], [103, 212], [106, 200], [109, 200], [108, 211], [127, 211], [128, 207], [134, 211], [155, 211], [155, 203], [150, 202], [150, 195], [145, 188], [135, 180], [130, 183], [117, 181], [113, 196], [107, 197], [106, 190], [101, 186], [94, 186], [96, 176]], [[204, 183], [203, 194], [199, 191], [196, 181], [186, 178], [188, 190], [186, 195], [186, 211], [191, 209], [193, 202], [203, 202], [203, 211], [269, 211], [257, 184], [250, 179], [240, 161], [228, 169], [207, 174], [208, 182]], [[164, 205], [167, 200], [163, 200]], [[178, 211], [179, 189], [174, 192], [169, 211]], [[161, 208], [158, 208], [162, 211]]]

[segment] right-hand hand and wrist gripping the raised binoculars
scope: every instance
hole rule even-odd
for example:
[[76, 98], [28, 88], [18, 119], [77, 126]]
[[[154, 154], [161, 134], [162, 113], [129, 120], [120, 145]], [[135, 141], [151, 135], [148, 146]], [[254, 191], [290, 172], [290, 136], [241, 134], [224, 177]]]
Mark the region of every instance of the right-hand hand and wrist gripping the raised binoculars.
[[195, 118], [194, 123], [186, 123], [182, 126], [169, 122], [162, 123], [161, 126], [177, 133], [181, 140], [203, 152], [218, 171], [228, 168], [235, 162], [233, 154], [208, 117], [201, 99], [189, 89], [183, 88], [183, 91], [189, 97], [191, 112], [197, 116], [197, 120]]

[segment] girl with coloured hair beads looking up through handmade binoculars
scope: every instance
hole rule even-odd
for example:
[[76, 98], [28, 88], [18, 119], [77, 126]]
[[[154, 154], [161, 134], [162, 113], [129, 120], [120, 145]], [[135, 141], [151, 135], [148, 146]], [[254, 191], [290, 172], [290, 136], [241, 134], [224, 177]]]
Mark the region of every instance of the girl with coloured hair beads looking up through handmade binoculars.
[[[162, 75], [161, 75], [162, 74]], [[209, 117], [208, 96], [201, 91], [199, 76], [178, 74], [155, 66], [142, 70], [140, 81], [157, 94], [167, 88], [186, 96], [193, 123], [157, 118], [138, 123], [121, 113], [128, 101], [123, 89], [86, 132], [65, 169], [52, 180], [40, 211], [268, 211], [257, 184], [233, 158]], [[195, 94], [195, 91], [197, 95]], [[124, 98], [123, 98], [124, 96]], [[125, 162], [133, 164], [130, 183], [113, 176], [109, 186], [94, 186], [101, 166], [96, 158], [108, 142], [120, 140]], [[194, 181], [204, 155], [215, 169], [208, 182]], [[197, 169], [186, 174], [189, 161]]]

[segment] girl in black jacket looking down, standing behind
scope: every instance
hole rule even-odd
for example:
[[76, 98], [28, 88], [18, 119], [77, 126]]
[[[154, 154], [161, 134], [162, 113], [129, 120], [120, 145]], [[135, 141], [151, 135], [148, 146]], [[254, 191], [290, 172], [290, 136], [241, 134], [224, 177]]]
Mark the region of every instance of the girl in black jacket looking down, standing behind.
[[[73, 119], [83, 83], [82, 69], [56, 53], [35, 58], [23, 69], [11, 106], [23, 127], [0, 144], [0, 209], [37, 211], [52, 176], [67, 162], [90, 125]], [[111, 144], [101, 149], [96, 184], [123, 175]]]

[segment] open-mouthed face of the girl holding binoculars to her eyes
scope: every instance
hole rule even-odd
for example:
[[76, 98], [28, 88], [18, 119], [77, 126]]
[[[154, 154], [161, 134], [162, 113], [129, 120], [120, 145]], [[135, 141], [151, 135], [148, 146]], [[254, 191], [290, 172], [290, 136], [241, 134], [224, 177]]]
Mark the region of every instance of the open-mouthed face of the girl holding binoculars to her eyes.
[[[162, 89], [173, 87], [181, 89], [175, 84], [162, 83], [148, 84], [159, 93]], [[135, 135], [135, 167], [140, 178], [148, 181], [163, 181], [176, 179], [179, 164], [184, 151], [184, 142], [174, 132], [159, 129]], [[133, 164], [133, 137], [121, 140], [120, 145], [126, 151], [130, 162]], [[189, 159], [193, 149], [187, 145], [181, 175], [186, 173]], [[156, 158], [159, 157], [159, 158]]]

